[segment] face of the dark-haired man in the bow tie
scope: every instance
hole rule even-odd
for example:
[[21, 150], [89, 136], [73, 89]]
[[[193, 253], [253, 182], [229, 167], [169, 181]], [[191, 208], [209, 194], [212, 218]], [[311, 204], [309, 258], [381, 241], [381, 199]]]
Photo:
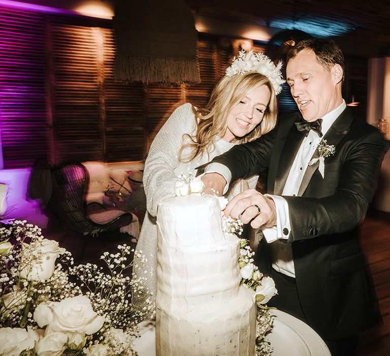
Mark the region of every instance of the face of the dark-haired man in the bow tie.
[[320, 65], [310, 49], [300, 51], [288, 61], [287, 84], [304, 120], [313, 122], [341, 104], [336, 67], [328, 69]]

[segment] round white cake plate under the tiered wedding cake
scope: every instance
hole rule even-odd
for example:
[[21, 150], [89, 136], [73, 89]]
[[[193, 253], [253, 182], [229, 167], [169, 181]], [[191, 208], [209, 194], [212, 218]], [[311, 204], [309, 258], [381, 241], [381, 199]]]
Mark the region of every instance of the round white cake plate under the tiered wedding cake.
[[[331, 356], [327, 345], [309, 325], [280, 310], [275, 310], [274, 315], [274, 326], [267, 334], [274, 348], [272, 356]], [[134, 341], [134, 349], [139, 356], [155, 356], [154, 321], [144, 321], [139, 326], [141, 337]]]

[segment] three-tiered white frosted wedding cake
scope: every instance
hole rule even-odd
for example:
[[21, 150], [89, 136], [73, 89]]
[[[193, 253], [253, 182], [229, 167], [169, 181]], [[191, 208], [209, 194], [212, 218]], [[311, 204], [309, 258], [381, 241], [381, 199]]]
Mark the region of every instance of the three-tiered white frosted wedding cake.
[[240, 242], [212, 195], [158, 205], [157, 355], [254, 355], [253, 290], [240, 286]]

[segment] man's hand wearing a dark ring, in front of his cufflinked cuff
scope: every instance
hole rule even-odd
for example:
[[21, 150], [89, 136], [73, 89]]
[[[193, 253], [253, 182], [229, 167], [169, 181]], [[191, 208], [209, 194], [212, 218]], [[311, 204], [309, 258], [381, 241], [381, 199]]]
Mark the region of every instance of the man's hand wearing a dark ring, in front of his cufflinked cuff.
[[223, 212], [227, 217], [239, 217], [244, 224], [250, 222], [250, 226], [253, 228], [276, 225], [276, 207], [273, 199], [254, 189], [237, 194], [226, 205]]

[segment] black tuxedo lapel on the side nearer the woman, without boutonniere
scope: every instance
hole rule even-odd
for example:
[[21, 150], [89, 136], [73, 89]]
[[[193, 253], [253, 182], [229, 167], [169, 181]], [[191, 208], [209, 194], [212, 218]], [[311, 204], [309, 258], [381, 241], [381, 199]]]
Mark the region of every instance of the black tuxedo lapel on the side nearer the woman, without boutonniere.
[[[300, 121], [301, 118], [298, 115], [295, 122]], [[299, 147], [305, 138], [305, 135], [298, 131], [297, 127], [293, 124], [286, 136], [283, 149], [280, 154], [278, 169], [275, 176], [274, 193], [275, 195], [281, 195], [284, 185], [287, 180], [290, 167], [294, 162], [295, 156], [299, 150]]]

